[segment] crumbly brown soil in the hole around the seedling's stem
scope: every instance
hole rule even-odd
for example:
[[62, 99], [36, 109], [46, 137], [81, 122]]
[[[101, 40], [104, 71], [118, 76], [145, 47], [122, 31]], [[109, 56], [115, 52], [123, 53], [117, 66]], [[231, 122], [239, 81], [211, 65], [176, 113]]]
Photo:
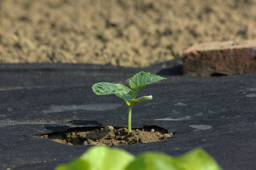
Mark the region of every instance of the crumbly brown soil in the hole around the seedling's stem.
[[137, 143], [158, 142], [171, 137], [166, 129], [158, 126], [145, 126], [132, 129], [128, 134], [127, 128], [113, 126], [71, 128], [67, 131], [42, 134], [40, 138], [66, 145], [133, 145]]

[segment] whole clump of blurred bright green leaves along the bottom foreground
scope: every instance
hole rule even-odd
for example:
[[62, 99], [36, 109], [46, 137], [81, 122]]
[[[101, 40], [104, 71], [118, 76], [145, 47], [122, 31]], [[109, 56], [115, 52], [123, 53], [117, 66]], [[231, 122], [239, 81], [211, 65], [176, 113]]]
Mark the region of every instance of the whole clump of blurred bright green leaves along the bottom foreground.
[[171, 157], [161, 152], [143, 152], [137, 158], [119, 148], [95, 146], [80, 158], [61, 164], [55, 170], [222, 170], [202, 148]]

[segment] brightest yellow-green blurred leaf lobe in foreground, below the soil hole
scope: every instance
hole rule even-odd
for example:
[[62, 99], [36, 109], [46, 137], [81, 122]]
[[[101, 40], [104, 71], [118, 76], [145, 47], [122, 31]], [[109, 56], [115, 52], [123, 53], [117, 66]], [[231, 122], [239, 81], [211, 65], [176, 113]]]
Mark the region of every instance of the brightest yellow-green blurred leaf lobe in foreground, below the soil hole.
[[85, 152], [81, 159], [86, 160], [93, 170], [123, 170], [135, 156], [119, 148], [96, 146]]

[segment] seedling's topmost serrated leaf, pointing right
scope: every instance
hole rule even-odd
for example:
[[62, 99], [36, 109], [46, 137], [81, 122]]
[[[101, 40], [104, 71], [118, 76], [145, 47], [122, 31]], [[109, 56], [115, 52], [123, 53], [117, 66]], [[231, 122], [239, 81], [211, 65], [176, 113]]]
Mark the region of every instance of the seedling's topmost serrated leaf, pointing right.
[[148, 84], [158, 82], [163, 79], [166, 78], [163, 78], [159, 75], [145, 73], [142, 71], [140, 73], [135, 74], [132, 78], [129, 79], [129, 86], [133, 90], [139, 90], [140, 88], [147, 86]]

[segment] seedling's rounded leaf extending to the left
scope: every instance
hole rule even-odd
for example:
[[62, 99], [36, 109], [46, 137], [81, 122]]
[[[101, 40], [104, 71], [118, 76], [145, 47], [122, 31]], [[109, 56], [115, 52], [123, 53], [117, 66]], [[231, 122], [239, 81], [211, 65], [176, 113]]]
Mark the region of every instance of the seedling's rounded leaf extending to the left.
[[118, 92], [122, 92], [123, 94], [128, 94], [130, 91], [130, 88], [124, 86], [123, 84], [101, 82], [101, 83], [94, 84], [92, 86], [92, 90], [96, 95], [110, 95]]

